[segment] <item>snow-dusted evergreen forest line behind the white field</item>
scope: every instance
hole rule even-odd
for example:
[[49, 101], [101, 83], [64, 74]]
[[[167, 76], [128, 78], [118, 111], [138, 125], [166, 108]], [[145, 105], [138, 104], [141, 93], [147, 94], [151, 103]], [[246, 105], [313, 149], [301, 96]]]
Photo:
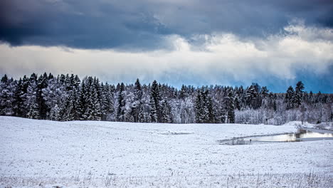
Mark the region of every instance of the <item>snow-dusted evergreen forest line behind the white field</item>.
[[164, 123], [332, 122], [333, 95], [307, 93], [300, 81], [286, 93], [253, 83], [247, 88], [210, 85], [180, 89], [157, 83], [102, 83], [78, 75], [4, 75], [0, 115], [40, 120], [107, 120]]

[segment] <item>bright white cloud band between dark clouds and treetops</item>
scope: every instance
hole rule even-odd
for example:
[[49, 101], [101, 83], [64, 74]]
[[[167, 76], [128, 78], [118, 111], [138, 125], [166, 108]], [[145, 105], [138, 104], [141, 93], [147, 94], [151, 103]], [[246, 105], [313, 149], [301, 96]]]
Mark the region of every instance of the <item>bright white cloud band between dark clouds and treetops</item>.
[[[0, 46], [0, 73], [18, 77], [32, 72], [97, 75], [109, 82], [141, 78], [193, 80], [193, 83], [228, 84], [230, 80], [250, 83], [260, 76], [295, 78], [302, 69], [326, 73], [333, 64], [332, 29], [290, 25], [287, 33], [268, 38], [244, 39], [232, 33], [213, 33], [198, 46], [179, 36], [168, 36], [174, 51], [120, 52], [75, 48]], [[199, 81], [203, 80], [203, 82]], [[192, 84], [192, 83], [191, 83]]]

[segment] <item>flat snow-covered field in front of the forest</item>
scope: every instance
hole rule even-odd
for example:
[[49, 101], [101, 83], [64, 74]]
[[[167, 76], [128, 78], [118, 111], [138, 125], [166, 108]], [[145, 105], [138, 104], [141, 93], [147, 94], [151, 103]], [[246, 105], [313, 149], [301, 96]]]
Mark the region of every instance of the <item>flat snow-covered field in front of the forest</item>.
[[291, 123], [176, 125], [0, 116], [0, 187], [57, 183], [65, 187], [312, 187], [310, 181], [319, 183], [317, 187], [332, 186], [333, 140], [217, 142], [296, 131]]

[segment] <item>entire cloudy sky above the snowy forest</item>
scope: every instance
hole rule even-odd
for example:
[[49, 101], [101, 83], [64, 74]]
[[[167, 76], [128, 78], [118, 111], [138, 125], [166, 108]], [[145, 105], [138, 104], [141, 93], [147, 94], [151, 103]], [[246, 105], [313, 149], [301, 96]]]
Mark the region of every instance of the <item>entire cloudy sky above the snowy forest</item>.
[[0, 75], [333, 93], [330, 0], [2, 0]]

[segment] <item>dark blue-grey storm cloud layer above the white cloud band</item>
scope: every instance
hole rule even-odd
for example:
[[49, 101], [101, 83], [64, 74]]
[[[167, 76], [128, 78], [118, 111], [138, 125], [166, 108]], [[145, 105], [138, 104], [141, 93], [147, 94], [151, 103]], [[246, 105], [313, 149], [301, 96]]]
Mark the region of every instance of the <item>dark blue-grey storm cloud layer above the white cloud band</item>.
[[[0, 40], [12, 46], [169, 48], [164, 36], [261, 37], [292, 19], [332, 27], [331, 1], [3, 0]], [[198, 42], [198, 41], [193, 41]], [[200, 41], [199, 41], [200, 43]]]

